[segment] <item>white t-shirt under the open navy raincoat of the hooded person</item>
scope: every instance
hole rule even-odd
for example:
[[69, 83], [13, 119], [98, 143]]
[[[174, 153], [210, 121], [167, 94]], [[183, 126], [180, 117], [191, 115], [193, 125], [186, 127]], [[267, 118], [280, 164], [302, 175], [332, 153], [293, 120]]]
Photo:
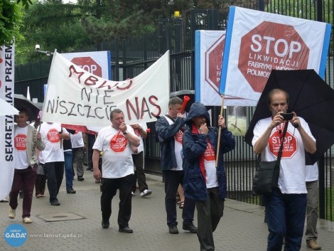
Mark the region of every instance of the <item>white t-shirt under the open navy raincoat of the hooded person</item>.
[[206, 175], [206, 187], [215, 188], [218, 186], [218, 177], [216, 169], [215, 149], [208, 141], [208, 146], [204, 151], [204, 167]]

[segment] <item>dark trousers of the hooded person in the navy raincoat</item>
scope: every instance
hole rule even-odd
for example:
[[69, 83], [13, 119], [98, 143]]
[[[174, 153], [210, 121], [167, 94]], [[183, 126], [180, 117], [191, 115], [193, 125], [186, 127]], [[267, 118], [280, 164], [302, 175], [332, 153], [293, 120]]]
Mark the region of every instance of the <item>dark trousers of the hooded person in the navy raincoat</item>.
[[220, 198], [219, 189], [208, 188], [205, 201], [196, 201], [200, 250], [215, 250], [213, 232], [217, 228], [224, 212], [224, 201]]

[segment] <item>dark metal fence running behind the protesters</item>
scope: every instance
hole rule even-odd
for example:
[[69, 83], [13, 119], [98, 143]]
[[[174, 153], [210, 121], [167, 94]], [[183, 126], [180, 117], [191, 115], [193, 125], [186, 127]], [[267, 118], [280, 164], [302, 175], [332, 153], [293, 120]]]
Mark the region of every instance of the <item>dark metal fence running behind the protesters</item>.
[[[317, 21], [333, 23], [333, 7], [328, 1], [240, 1], [241, 6], [249, 9], [259, 9], [276, 14], [296, 16]], [[227, 23], [227, 11], [196, 10], [188, 12], [185, 18], [163, 18], [158, 21], [155, 33], [145, 34], [140, 38], [122, 41], [108, 41], [92, 48], [82, 48], [81, 51], [110, 50], [112, 54], [112, 80], [134, 78], [149, 68], [160, 55], [170, 50], [171, 66], [171, 96], [194, 94], [194, 43], [195, 30], [222, 30]], [[333, 87], [333, 37], [330, 41], [325, 81]], [[43, 85], [48, 80], [50, 58], [38, 63], [29, 63], [16, 67], [15, 92], [26, 94], [29, 86], [31, 97], [39, 97], [43, 102]], [[212, 108], [212, 118], [220, 113], [220, 107]], [[247, 125], [252, 118], [254, 107], [247, 107]], [[226, 117], [226, 116], [225, 116]], [[215, 124], [215, 119], [213, 124]], [[154, 122], [149, 123], [151, 133], [145, 142], [146, 171], [161, 173], [159, 167], [160, 149], [156, 142]], [[252, 148], [244, 142], [243, 137], [236, 137], [237, 146], [234, 151], [226, 154], [228, 197], [261, 204], [261, 198], [252, 196], [252, 177], [255, 173], [255, 160]], [[333, 147], [332, 147], [333, 148]], [[320, 218], [334, 220], [333, 194], [333, 149], [329, 149], [319, 166], [319, 215]]]

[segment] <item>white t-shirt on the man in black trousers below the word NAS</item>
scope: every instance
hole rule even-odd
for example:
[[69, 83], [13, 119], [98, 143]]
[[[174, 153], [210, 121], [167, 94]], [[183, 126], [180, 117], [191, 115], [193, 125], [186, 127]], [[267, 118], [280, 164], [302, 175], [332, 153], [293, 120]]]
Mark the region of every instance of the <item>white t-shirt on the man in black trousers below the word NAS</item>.
[[[126, 126], [128, 133], [134, 134], [134, 129]], [[93, 149], [102, 151], [103, 178], [122, 178], [134, 173], [129, 141], [114, 127], [104, 127], [97, 134]]]

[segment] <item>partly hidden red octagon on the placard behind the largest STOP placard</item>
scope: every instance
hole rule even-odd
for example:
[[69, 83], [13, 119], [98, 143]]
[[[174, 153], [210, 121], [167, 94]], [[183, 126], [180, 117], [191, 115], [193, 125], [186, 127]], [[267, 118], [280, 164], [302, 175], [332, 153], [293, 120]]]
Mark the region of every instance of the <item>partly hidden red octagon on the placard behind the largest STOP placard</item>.
[[225, 34], [220, 36], [220, 38], [205, 51], [205, 81], [217, 92], [219, 92], [224, 46]]

